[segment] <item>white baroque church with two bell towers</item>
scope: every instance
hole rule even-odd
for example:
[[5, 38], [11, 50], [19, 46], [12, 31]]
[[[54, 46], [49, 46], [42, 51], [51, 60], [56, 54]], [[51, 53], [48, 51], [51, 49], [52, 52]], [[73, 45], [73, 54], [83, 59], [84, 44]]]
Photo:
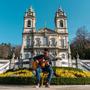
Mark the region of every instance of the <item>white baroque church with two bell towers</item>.
[[[44, 27], [36, 30], [35, 11], [30, 7], [24, 16], [24, 31], [22, 33], [21, 58], [31, 58], [33, 55], [42, 54], [44, 48], [58, 58], [57, 66], [69, 66], [69, 44], [67, 31], [67, 16], [59, 8], [54, 17], [55, 28]], [[64, 62], [63, 62], [64, 61]]]

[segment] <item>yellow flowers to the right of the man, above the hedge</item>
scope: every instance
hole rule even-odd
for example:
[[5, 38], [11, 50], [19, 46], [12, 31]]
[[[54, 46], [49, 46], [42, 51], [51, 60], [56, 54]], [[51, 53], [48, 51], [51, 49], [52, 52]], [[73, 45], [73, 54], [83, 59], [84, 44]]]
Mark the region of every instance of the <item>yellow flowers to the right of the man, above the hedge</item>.
[[55, 74], [57, 77], [67, 78], [90, 77], [90, 72], [88, 71], [68, 70], [63, 68], [56, 68]]

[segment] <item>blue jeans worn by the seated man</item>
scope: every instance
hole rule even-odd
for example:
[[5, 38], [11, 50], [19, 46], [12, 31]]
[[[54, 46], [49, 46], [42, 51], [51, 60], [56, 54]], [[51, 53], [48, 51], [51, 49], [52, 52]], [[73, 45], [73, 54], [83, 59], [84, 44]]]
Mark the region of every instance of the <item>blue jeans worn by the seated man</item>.
[[53, 75], [53, 69], [51, 66], [45, 66], [45, 68], [41, 68], [40, 66], [38, 66], [38, 68], [36, 69], [36, 79], [37, 79], [37, 83], [40, 83], [40, 73], [41, 72], [47, 72], [48, 76], [47, 76], [47, 82], [50, 83], [52, 75]]

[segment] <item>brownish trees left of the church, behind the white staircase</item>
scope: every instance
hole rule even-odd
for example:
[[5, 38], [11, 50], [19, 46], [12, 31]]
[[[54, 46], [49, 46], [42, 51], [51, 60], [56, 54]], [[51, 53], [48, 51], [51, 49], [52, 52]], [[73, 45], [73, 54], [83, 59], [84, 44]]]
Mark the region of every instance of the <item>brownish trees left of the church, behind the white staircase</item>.
[[0, 44], [0, 58], [1, 59], [11, 59], [13, 53], [15, 53], [15, 58], [20, 57], [21, 46], [12, 46], [10, 43]]

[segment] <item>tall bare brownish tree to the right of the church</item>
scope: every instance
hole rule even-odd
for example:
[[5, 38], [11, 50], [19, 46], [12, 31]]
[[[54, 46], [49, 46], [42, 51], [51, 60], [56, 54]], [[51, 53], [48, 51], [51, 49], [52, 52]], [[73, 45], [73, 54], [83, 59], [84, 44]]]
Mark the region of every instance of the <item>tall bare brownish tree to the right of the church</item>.
[[[76, 58], [77, 53], [81, 59], [89, 58], [86, 54], [90, 48], [90, 35], [85, 27], [80, 27], [76, 32], [76, 37], [71, 43], [72, 57]], [[89, 49], [90, 50], [90, 49]]]

